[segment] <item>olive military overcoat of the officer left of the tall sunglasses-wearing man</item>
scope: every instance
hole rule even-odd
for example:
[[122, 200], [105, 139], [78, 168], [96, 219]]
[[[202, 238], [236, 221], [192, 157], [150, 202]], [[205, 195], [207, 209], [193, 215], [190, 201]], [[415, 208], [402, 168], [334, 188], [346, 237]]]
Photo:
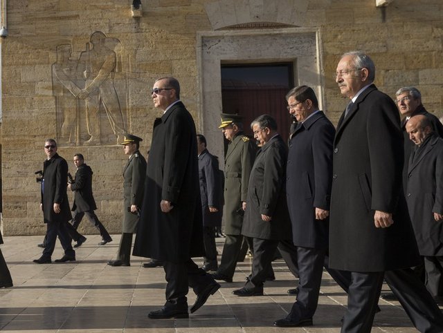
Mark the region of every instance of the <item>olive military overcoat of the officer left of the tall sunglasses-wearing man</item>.
[[140, 151], [133, 153], [123, 170], [123, 232], [137, 229], [138, 214], [128, 211], [135, 204], [141, 207], [145, 193], [146, 160]]

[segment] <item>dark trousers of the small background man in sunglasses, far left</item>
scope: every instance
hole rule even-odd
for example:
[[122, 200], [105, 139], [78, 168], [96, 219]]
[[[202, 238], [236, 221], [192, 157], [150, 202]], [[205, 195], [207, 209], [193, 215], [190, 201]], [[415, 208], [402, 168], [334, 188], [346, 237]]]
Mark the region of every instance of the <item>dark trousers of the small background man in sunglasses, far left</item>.
[[57, 236], [62, 243], [64, 254], [66, 256], [75, 257], [75, 251], [72, 248], [72, 238], [69, 236], [68, 225], [69, 222], [47, 222], [46, 223], [46, 245], [43, 250], [43, 258], [51, 258]]

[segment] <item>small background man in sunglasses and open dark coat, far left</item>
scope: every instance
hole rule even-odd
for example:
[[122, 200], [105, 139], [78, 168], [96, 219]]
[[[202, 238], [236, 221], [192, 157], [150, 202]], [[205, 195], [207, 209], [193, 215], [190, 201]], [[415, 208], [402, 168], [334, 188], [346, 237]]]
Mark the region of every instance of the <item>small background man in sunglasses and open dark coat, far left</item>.
[[51, 263], [57, 236], [62, 243], [64, 256], [55, 260], [57, 263], [75, 261], [75, 251], [72, 248], [72, 238], [69, 236], [67, 224], [71, 220], [68, 194], [68, 163], [57, 154], [57, 142], [47, 139], [44, 143], [46, 161], [43, 164], [42, 201], [40, 209], [43, 211], [46, 223], [46, 243], [43, 254], [34, 263]]

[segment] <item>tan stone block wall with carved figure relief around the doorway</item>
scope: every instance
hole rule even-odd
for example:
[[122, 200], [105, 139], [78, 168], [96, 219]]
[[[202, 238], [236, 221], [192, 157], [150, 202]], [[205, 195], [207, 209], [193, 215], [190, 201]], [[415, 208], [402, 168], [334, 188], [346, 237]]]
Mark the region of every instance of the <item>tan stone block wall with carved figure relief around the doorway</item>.
[[[387, 8], [376, 8], [375, 0], [142, 0], [141, 18], [131, 16], [131, 3], [8, 1], [9, 36], [1, 40], [5, 234], [44, 234], [34, 172], [42, 169], [46, 137], [58, 139], [59, 153], [68, 160], [71, 173], [73, 154], [85, 156], [94, 171], [97, 214], [111, 232], [121, 231], [126, 156], [117, 142], [127, 130], [143, 137], [143, 154], [149, 149], [152, 123], [161, 115], [150, 100], [158, 77], [179, 79], [181, 98], [199, 131], [206, 131], [208, 141], [217, 146], [217, 129], [204, 124], [217, 123], [214, 117], [221, 110], [205, 110], [208, 97], [201, 95], [201, 41], [208, 35], [229, 37], [241, 30], [252, 39], [257, 32], [275, 36], [271, 45], [253, 43], [251, 48], [258, 51], [289, 49], [286, 37], [276, 31], [314, 34], [314, 73], [307, 79], [309, 75], [298, 71], [296, 82], [318, 86], [323, 109], [334, 123], [347, 102], [332, 75], [341, 54], [354, 49], [374, 59], [381, 90], [394, 97], [400, 86], [417, 86], [428, 111], [443, 115], [441, 0], [419, 6], [417, 1], [395, 0]], [[240, 51], [227, 52], [241, 62]], [[82, 93], [88, 86], [89, 91]], [[221, 94], [211, 93], [211, 105], [221, 108]], [[98, 102], [98, 97], [105, 102]], [[95, 232], [88, 222], [80, 228]]]

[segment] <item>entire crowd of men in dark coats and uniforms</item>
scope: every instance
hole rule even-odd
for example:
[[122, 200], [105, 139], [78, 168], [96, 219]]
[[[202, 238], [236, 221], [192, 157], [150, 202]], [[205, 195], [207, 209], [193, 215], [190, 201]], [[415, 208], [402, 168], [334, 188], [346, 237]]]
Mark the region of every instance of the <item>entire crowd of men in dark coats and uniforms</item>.
[[[289, 91], [287, 108], [297, 121], [289, 146], [269, 115], [251, 124], [257, 149], [244, 135], [241, 117], [222, 114], [219, 128], [229, 142], [224, 180], [180, 100], [177, 79], [154, 82], [152, 100], [163, 115], [154, 122], [147, 163], [138, 151], [141, 138], [127, 134], [122, 143], [129, 155], [125, 218], [117, 259], [109, 262], [130, 265], [136, 232], [133, 254], [163, 265], [166, 302], [150, 318], [188, 318], [189, 287], [197, 294], [193, 313], [217, 292], [216, 280], [232, 282], [246, 238], [252, 272], [233, 294], [263, 295], [277, 249], [299, 278], [296, 302], [275, 326], [313, 325], [324, 267], [348, 294], [342, 332], [370, 332], [383, 279], [393, 293], [386, 297], [398, 299], [417, 330], [443, 332], [437, 306], [443, 282], [443, 126], [425, 110], [416, 88], [399, 89], [397, 105], [379, 91], [374, 62], [365, 53], [345, 53], [335, 78], [350, 99], [336, 129], [312, 88]], [[46, 246], [34, 261], [51, 262], [57, 236], [64, 248], [59, 261], [75, 260], [65, 223], [71, 219], [66, 187], [76, 191], [79, 171], [86, 168], [76, 164], [75, 182], [59, 184], [67, 176], [66, 161], [52, 139], [45, 152]], [[75, 200], [80, 206], [77, 193]], [[218, 265], [213, 228], [222, 207], [226, 240]], [[103, 242], [111, 241], [94, 209], [95, 203], [84, 213]], [[81, 213], [75, 216], [81, 219]], [[198, 256], [203, 267], [192, 260]]]

